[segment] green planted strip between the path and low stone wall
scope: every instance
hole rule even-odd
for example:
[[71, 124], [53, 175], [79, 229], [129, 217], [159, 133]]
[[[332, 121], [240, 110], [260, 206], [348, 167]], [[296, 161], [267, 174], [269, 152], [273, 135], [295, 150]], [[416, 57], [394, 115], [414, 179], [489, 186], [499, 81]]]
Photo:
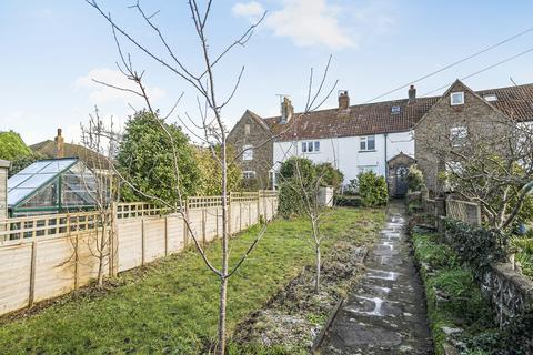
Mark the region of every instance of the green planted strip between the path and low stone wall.
[[440, 243], [438, 234], [430, 232], [413, 233], [413, 246], [425, 285], [435, 354], [444, 354], [447, 336], [443, 327], [462, 328], [462, 338], [493, 327], [493, 311], [483, 298], [472, 270], [459, 264], [455, 252]]

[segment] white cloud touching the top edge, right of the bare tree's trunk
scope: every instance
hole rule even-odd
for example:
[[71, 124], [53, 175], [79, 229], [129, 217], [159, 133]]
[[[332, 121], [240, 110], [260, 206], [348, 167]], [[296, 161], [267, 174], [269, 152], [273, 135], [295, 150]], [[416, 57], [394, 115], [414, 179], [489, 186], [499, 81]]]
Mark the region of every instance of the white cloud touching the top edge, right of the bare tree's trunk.
[[[259, 2], [251, 1], [235, 4], [233, 13], [253, 18], [262, 9]], [[341, 13], [326, 0], [283, 0], [283, 8], [272, 11], [263, 24], [274, 36], [292, 39], [298, 47], [353, 48], [355, 41], [339, 23]]]

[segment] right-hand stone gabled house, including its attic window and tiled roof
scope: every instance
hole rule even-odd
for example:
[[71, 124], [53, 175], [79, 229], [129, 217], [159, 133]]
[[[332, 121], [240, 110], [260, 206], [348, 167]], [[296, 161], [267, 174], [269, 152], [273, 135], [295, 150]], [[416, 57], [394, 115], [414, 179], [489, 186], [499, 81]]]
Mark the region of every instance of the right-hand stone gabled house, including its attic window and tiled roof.
[[510, 128], [509, 120], [533, 121], [533, 84], [473, 91], [455, 81], [414, 126], [415, 159], [428, 189], [435, 194], [449, 189], [441, 173], [453, 161], [434, 153], [436, 145], [460, 149], [474, 138], [491, 141]]

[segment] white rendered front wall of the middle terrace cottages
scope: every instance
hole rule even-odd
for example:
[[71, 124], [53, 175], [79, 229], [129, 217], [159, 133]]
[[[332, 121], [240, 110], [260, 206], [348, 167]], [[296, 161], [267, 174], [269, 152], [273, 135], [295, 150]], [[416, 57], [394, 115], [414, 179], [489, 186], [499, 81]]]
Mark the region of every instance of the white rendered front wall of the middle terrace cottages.
[[[302, 153], [302, 142], [309, 141], [320, 141], [320, 152]], [[400, 152], [414, 158], [413, 131], [386, 134], [386, 160]], [[332, 163], [344, 173], [344, 183], [356, 178], [363, 166], [375, 166], [380, 175], [385, 175], [385, 134], [375, 134], [375, 151], [371, 152], [360, 151], [360, 136], [274, 142], [275, 169], [293, 155], [308, 158], [315, 163]]]

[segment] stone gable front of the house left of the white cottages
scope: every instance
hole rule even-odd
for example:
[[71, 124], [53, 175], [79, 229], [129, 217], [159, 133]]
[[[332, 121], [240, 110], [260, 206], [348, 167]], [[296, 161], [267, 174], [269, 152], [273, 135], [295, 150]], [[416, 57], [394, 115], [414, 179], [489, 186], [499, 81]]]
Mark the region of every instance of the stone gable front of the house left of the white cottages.
[[243, 160], [242, 156], [238, 159], [243, 172], [255, 172], [254, 179], [244, 181], [244, 184], [251, 190], [270, 187], [270, 170], [273, 163], [272, 134], [258, 120], [261, 119], [254, 118], [253, 113], [247, 111], [228, 136], [228, 143], [234, 148], [237, 153], [241, 152], [245, 145], [257, 146], [253, 149], [252, 160]]

